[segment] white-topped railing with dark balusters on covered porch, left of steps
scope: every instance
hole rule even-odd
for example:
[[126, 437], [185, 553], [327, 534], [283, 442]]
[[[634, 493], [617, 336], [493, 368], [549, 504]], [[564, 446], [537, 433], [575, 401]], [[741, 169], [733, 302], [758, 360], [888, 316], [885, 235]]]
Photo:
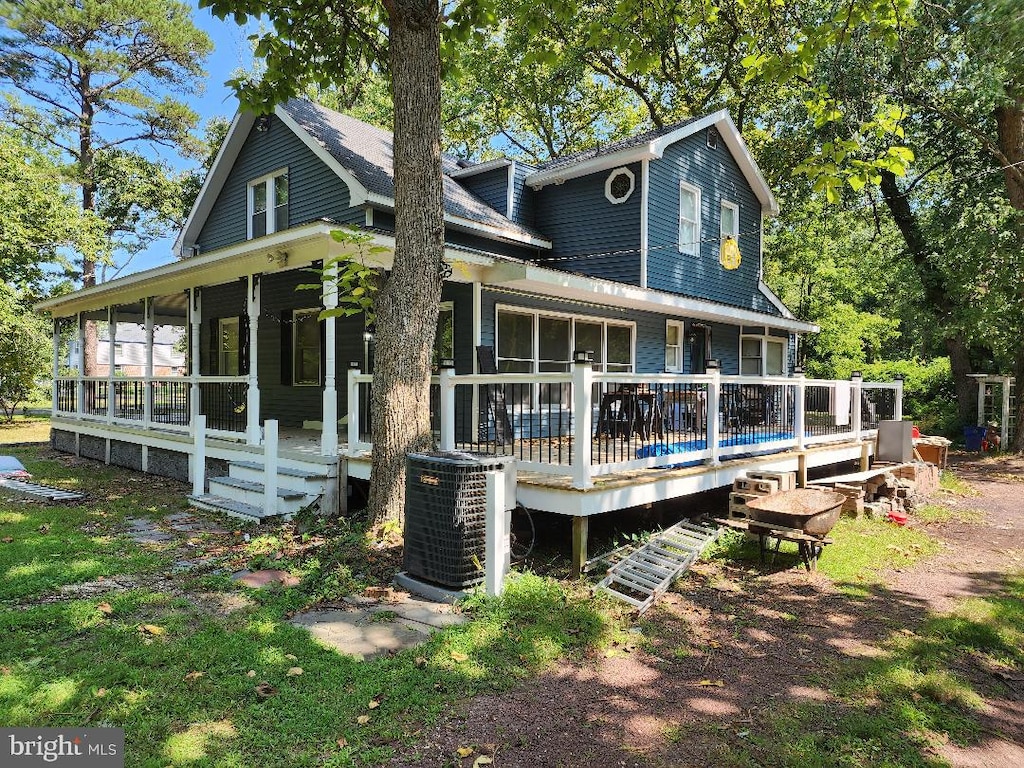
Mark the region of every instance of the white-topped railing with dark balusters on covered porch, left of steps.
[[248, 378], [201, 377], [61, 377], [55, 382], [55, 411], [146, 429], [189, 431], [195, 391], [198, 413], [207, 417], [207, 432], [238, 437], [246, 432]]

